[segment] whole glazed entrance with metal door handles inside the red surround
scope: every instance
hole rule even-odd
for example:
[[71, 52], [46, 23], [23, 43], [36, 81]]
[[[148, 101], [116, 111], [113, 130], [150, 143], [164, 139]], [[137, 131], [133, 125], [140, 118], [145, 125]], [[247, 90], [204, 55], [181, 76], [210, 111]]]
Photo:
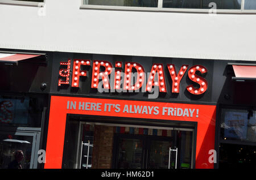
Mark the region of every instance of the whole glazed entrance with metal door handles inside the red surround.
[[77, 168], [193, 168], [192, 128], [80, 123]]

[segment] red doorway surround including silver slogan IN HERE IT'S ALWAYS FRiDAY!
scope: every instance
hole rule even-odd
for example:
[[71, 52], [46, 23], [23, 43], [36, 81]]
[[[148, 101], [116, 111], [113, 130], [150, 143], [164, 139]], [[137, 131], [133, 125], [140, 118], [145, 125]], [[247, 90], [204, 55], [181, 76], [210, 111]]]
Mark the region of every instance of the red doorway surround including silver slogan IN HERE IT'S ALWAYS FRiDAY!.
[[215, 105], [52, 96], [44, 168], [61, 168], [67, 114], [196, 122], [196, 168], [213, 168]]

